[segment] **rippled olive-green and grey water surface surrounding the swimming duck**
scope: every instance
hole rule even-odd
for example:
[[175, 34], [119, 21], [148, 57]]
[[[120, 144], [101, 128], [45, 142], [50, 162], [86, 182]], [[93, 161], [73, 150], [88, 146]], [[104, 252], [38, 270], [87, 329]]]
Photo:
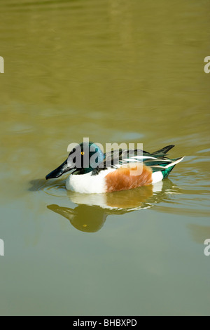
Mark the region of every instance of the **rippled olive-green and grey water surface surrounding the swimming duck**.
[[[1, 0], [1, 315], [209, 315], [209, 1]], [[69, 143], [185, 160], [66, 192]]]

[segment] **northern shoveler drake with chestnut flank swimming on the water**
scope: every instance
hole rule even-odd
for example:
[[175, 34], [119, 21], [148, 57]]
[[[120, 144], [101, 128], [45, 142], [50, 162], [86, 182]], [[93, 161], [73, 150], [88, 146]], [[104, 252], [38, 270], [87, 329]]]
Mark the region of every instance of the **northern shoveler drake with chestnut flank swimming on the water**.
[[[59, 178], [62, 174], [71, 171], [66, 180], [66, 189], [87, 194], [151, 185], [167, 178], [174, 166], [182, 161], [183, 157], [176, 159], [167, 157], [167, 152], [172, 147], [174, 145], [168, 145], [152, 153], [120, 149], [104, 154], [94, 143], [80, 143], [71, 150], [68, 159], [50, 172], [46, 179]], [[85, 154], [88, 154], [88, 159], [85, 159]], [[76, 157], [80, 159], [80, 164], [75, 161]]]

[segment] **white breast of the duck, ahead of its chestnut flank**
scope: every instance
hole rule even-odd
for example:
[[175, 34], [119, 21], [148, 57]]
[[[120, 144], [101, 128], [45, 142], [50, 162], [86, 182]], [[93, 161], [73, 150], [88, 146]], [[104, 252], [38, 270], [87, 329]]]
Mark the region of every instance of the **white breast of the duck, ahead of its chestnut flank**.
[[92, 176], [92, 172], [87, 174], [72, 174], [66, 180], [66, 189], [83, 194], [100, 194], [106, 192], [105, 176], [112, 171], [116, 170], [108, 169], [100, 171], [96, 176]]

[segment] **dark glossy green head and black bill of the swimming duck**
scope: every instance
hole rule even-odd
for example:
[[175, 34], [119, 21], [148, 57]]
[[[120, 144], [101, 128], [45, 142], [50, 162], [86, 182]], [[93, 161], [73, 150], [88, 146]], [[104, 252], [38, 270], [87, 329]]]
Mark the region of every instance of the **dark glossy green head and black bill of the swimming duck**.
[[96, 169], [104, 160], [104, 152], [95, 143], [80, 143], [71, 150], [69, 157], [57, 169], [50, 172], [46, 179], [59, 178], [71, 171], [74, 174], [85, 174]]

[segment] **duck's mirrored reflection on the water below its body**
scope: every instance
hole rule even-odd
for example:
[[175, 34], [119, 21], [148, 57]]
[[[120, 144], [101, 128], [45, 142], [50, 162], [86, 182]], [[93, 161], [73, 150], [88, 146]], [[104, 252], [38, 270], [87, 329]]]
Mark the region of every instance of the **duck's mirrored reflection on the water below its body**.
[[153, 204], [162, 202], [166, 195], [170, 194], [169, 187], [173, 193], [176, 193], [170, 180], [166, 181], [163, 190], [161, 183], [110, 194], [71, 192], [69, 193], [71, 202], [78, 204], [75, 209], [55, 204], [49, 205], [48, 209], [67, 218], [71, 225], [78, 230], [97, 232], [102, 228], [109, 215], [120, 215], [137, 209], [147, 209]]

